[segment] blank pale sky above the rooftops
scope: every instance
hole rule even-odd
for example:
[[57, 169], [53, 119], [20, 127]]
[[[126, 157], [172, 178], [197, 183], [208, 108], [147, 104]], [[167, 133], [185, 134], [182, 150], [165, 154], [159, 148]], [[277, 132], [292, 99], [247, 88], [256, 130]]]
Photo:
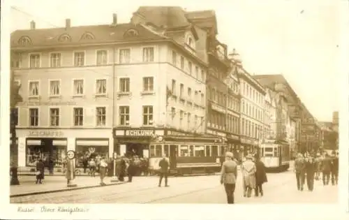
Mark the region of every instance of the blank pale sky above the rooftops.
[[[122, 2], [122, 3], [120, 3]], [[339, 47], [337, 1], [235, 0], [11, 0], [10, 31], [129, 22], [139, 6], [181, 6], [215, 10], [218, 40], [239, 52], [251, 75], [283, 74], [313, 117], [332, 121], [339, 110]]]

